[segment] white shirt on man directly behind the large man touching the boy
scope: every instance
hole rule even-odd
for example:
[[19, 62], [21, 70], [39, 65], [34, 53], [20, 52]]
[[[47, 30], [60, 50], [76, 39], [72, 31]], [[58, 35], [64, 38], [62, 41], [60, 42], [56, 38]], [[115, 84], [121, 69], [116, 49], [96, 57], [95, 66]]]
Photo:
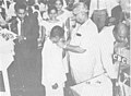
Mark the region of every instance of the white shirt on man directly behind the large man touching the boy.
[[115, 27], [114, 25], [104, 27], [99, 34], [102, 61], [107, 74], [111, 79], [117, 77], [117, 72], [115, 71], [115, 67], [112, 64], [114, 43], [116, 41], [112, 34], [114, 27]]

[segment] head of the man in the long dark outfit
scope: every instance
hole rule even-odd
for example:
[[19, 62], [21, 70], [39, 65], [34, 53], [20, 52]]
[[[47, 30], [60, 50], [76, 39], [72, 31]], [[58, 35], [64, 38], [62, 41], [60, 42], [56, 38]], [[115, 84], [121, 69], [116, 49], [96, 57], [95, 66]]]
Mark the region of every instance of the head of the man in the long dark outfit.
[[27, 13], [26, 11], [26, 5], [25, 4], [21, 4], [21, 3], [16, 3], [15, 7], [15, 13], [17, 15], [17, 17], [20, 17], [21, 20], [23, 20]]

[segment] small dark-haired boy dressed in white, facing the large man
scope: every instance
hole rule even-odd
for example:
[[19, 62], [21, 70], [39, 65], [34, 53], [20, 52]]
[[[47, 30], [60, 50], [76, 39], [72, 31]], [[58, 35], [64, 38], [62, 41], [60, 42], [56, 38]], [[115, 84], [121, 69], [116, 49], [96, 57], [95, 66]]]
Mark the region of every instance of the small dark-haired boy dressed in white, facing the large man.
[[64, 36], [60, 26], [52, 27], [43, 49], [43, 79], [46, 96], [63, 96], [66, 70], [62, 63], [62, 48], [57, 46]]

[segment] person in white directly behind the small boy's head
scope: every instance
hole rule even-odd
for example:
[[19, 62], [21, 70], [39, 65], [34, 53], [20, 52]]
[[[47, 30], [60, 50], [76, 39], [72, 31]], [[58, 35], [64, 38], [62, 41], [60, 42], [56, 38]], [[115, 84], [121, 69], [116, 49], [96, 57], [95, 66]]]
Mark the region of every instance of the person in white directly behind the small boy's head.
[[41, 33], [39, 33], [39, 39], [45, 41], [46, 38], [50, 36], [50, 31], [53, 26], [59, 25], [63, 26], [62, 22], [57, 19], [58, 10], [56, 7], [48, 8], [49, 19], [47, 21], [40, 22]]

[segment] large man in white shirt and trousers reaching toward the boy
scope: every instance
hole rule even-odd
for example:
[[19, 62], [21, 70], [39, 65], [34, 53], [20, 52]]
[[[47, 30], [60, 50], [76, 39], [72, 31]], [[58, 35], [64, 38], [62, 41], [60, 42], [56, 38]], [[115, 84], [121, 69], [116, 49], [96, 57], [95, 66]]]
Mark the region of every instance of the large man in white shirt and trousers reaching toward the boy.
[[[70, 51], [71, 71], [76, 83], [71, 88], [80, 96], [111, 96], [111, 82], [104, 74], [100, 62], [97, 27], [88, 19], [87, 12], [85, 3], [74, 5], [75, 21], [81, 25], [70, 45], [59, 44]], [[92, 91], [94, 92], [91, 93]]]

